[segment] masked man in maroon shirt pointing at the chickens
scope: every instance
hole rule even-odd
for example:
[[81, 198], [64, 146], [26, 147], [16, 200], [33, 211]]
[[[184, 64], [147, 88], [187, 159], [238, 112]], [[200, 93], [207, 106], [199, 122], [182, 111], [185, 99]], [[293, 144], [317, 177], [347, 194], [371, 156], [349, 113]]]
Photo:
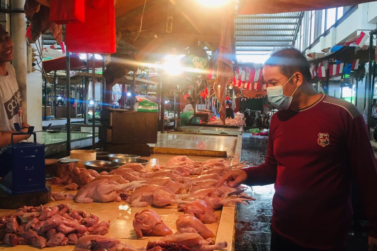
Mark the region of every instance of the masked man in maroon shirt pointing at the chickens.
[[231, 187], [275, 184], [271, 251], [345, 250], [352, 221], [351, 180], [377, 250], [377, 171], [363, 117], [341, 99], [317, 93], [296, 49], [274, 53], [263, 70], [271, 118], [265, 163], [233, 170]]

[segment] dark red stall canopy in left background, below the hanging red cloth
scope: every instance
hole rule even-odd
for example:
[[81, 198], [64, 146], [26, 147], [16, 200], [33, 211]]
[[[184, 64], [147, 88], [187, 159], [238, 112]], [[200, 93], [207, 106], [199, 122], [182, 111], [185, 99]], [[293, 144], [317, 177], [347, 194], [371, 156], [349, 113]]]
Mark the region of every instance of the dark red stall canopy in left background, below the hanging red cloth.
[[[50, 71], [62, 71], [67, 69], [66, 57], [59, 57], [54, 59], [45, 60], [42, 62], [43, 69], [46, 73]], [[88, 60], [89, 69], [92, 68], [93, 61]], [[99, 60], [94, 61], [95, 68], [102, 68], [102, 62]], [[70, 57], [70, 70], [84, 70], [86, 69], [86, 63], [77, 57]]]

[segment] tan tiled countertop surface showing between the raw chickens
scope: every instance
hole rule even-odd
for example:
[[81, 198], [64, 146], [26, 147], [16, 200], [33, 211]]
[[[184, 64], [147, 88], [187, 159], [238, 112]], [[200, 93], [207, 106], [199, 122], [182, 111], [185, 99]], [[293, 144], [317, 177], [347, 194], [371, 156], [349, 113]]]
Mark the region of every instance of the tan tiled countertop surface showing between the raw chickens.
[[[241, 139], [239, 137], [239, 139]], [[240, 141], [240, 140], [239, 140]], [[236, 149], [237, 155], [235, 156], [233, 163], [239, 161], [239, 153], [241, 152], [241, 144], [237, 145]], [[143, 157], [148, 159], [150, 162], [147, 165], [147, 168], [152, 166], [164, 165], [166, 162], [175, 155], [167, 155], [167, 154], [153, 154], [150, 157]], [[205, 161], [210, 159], [211, 157], [199, 157], [199, 156], [189, 156], [192, 160], [195, 161]], [[232, 161], [231, 158], [227, 160]], [[61, 193], [76, 193], [76, 191], [69, 191], [64, 189], [62, 185], [53, 185], [52, 190], [54, 192], [61, 192]], [[156, 208], [156, 207], [130, 207], [130, 205], [124, 201], [122, 202], [110, 202], [110, 203], [99, 203], [93, 202], [90, 204], [80, 204], [76, 203], [72, 200], [64, 200], [64, 201], [52, 201], [46, 204], [46, 206], [54, 206], [61, 203], [67, 203], [71, 208], [76, 210], [84, 210], [87, 213], [96, 214], [100, 221], [110, 221], [110, 229], [109, 233], [106, 234], [107, 237], [118, 238], [122, 242], [131, 244], [136, 248], [145, 247], [150, 240], [159, 240], [161, 237], [143, 237], [142, 239], [137, 239], [136, 234], [133, 231], [132, 221], [134, 219], [135, 213], [138, 211], [142, 211], [146, 208], [151, 208], [155, 210], [162, 218], [162, 220], [169, 225], [172, 229], [173, 233], [176, 232], [176, 225], [175, 221], [178, 219], [182, 212], [177, 211], [177, 205], [170, 205], [164, 208]], [[0, 209], [0, 215], [14, 213], [15, 210], [5, 210]], [[226, 241], [228, 243], [228, 247], [225, 249], [221, 249], [222, 251], [233, 251], [234, 249], [234, 231], [235, 231], [235, 218], [236, 218], [236, 207], [233, 206], [224, 206], [222, 210], [217, 210], [216, 214], [219, 216], [220, 221], [216, 224], [205, 224], [213, 233], [216, 234], [216, 242]], [[38, 248], [34, 248], [31, 246], [26, 245], [19, 245], [15, 247], [9, 247], [4, 244], [0, 245], [0, 249], [5, 248], [5, 250], [17, 250], [17, 251], [29, 251], [29, 250], [40, 250]], [[43, 248], [43, 250], [47, 251], [72, 251], [74, 246], [58, 246], [54, 248]]]

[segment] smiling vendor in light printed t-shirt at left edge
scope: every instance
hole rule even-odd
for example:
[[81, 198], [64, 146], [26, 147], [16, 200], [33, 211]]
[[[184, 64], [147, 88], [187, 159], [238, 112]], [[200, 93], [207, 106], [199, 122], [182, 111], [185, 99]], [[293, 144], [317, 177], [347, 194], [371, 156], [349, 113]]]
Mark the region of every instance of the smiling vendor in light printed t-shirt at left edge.
[[[11, 142], [15, 132], [14, 123], [19, 123], [22, 131], [29, 125], [22, 121], [21, 93], [18, 88], [14, 67], [9, 64], [13, 59], [13, 41], [4, 26], [0, 24], [0, 148]], [[29, 135], [17, 135], [15, 143], [25, 140]]]

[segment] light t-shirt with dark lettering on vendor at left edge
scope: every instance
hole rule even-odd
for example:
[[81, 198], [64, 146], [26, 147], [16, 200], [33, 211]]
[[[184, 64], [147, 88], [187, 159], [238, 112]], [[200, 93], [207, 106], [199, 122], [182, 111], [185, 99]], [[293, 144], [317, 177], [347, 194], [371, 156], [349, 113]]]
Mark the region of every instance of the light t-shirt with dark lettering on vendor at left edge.
[[14, 67], [7, 63], [7, 76], [0, 75], [0, 131], [14, 131], [14, 123], [22, 124], [21, 93]]

